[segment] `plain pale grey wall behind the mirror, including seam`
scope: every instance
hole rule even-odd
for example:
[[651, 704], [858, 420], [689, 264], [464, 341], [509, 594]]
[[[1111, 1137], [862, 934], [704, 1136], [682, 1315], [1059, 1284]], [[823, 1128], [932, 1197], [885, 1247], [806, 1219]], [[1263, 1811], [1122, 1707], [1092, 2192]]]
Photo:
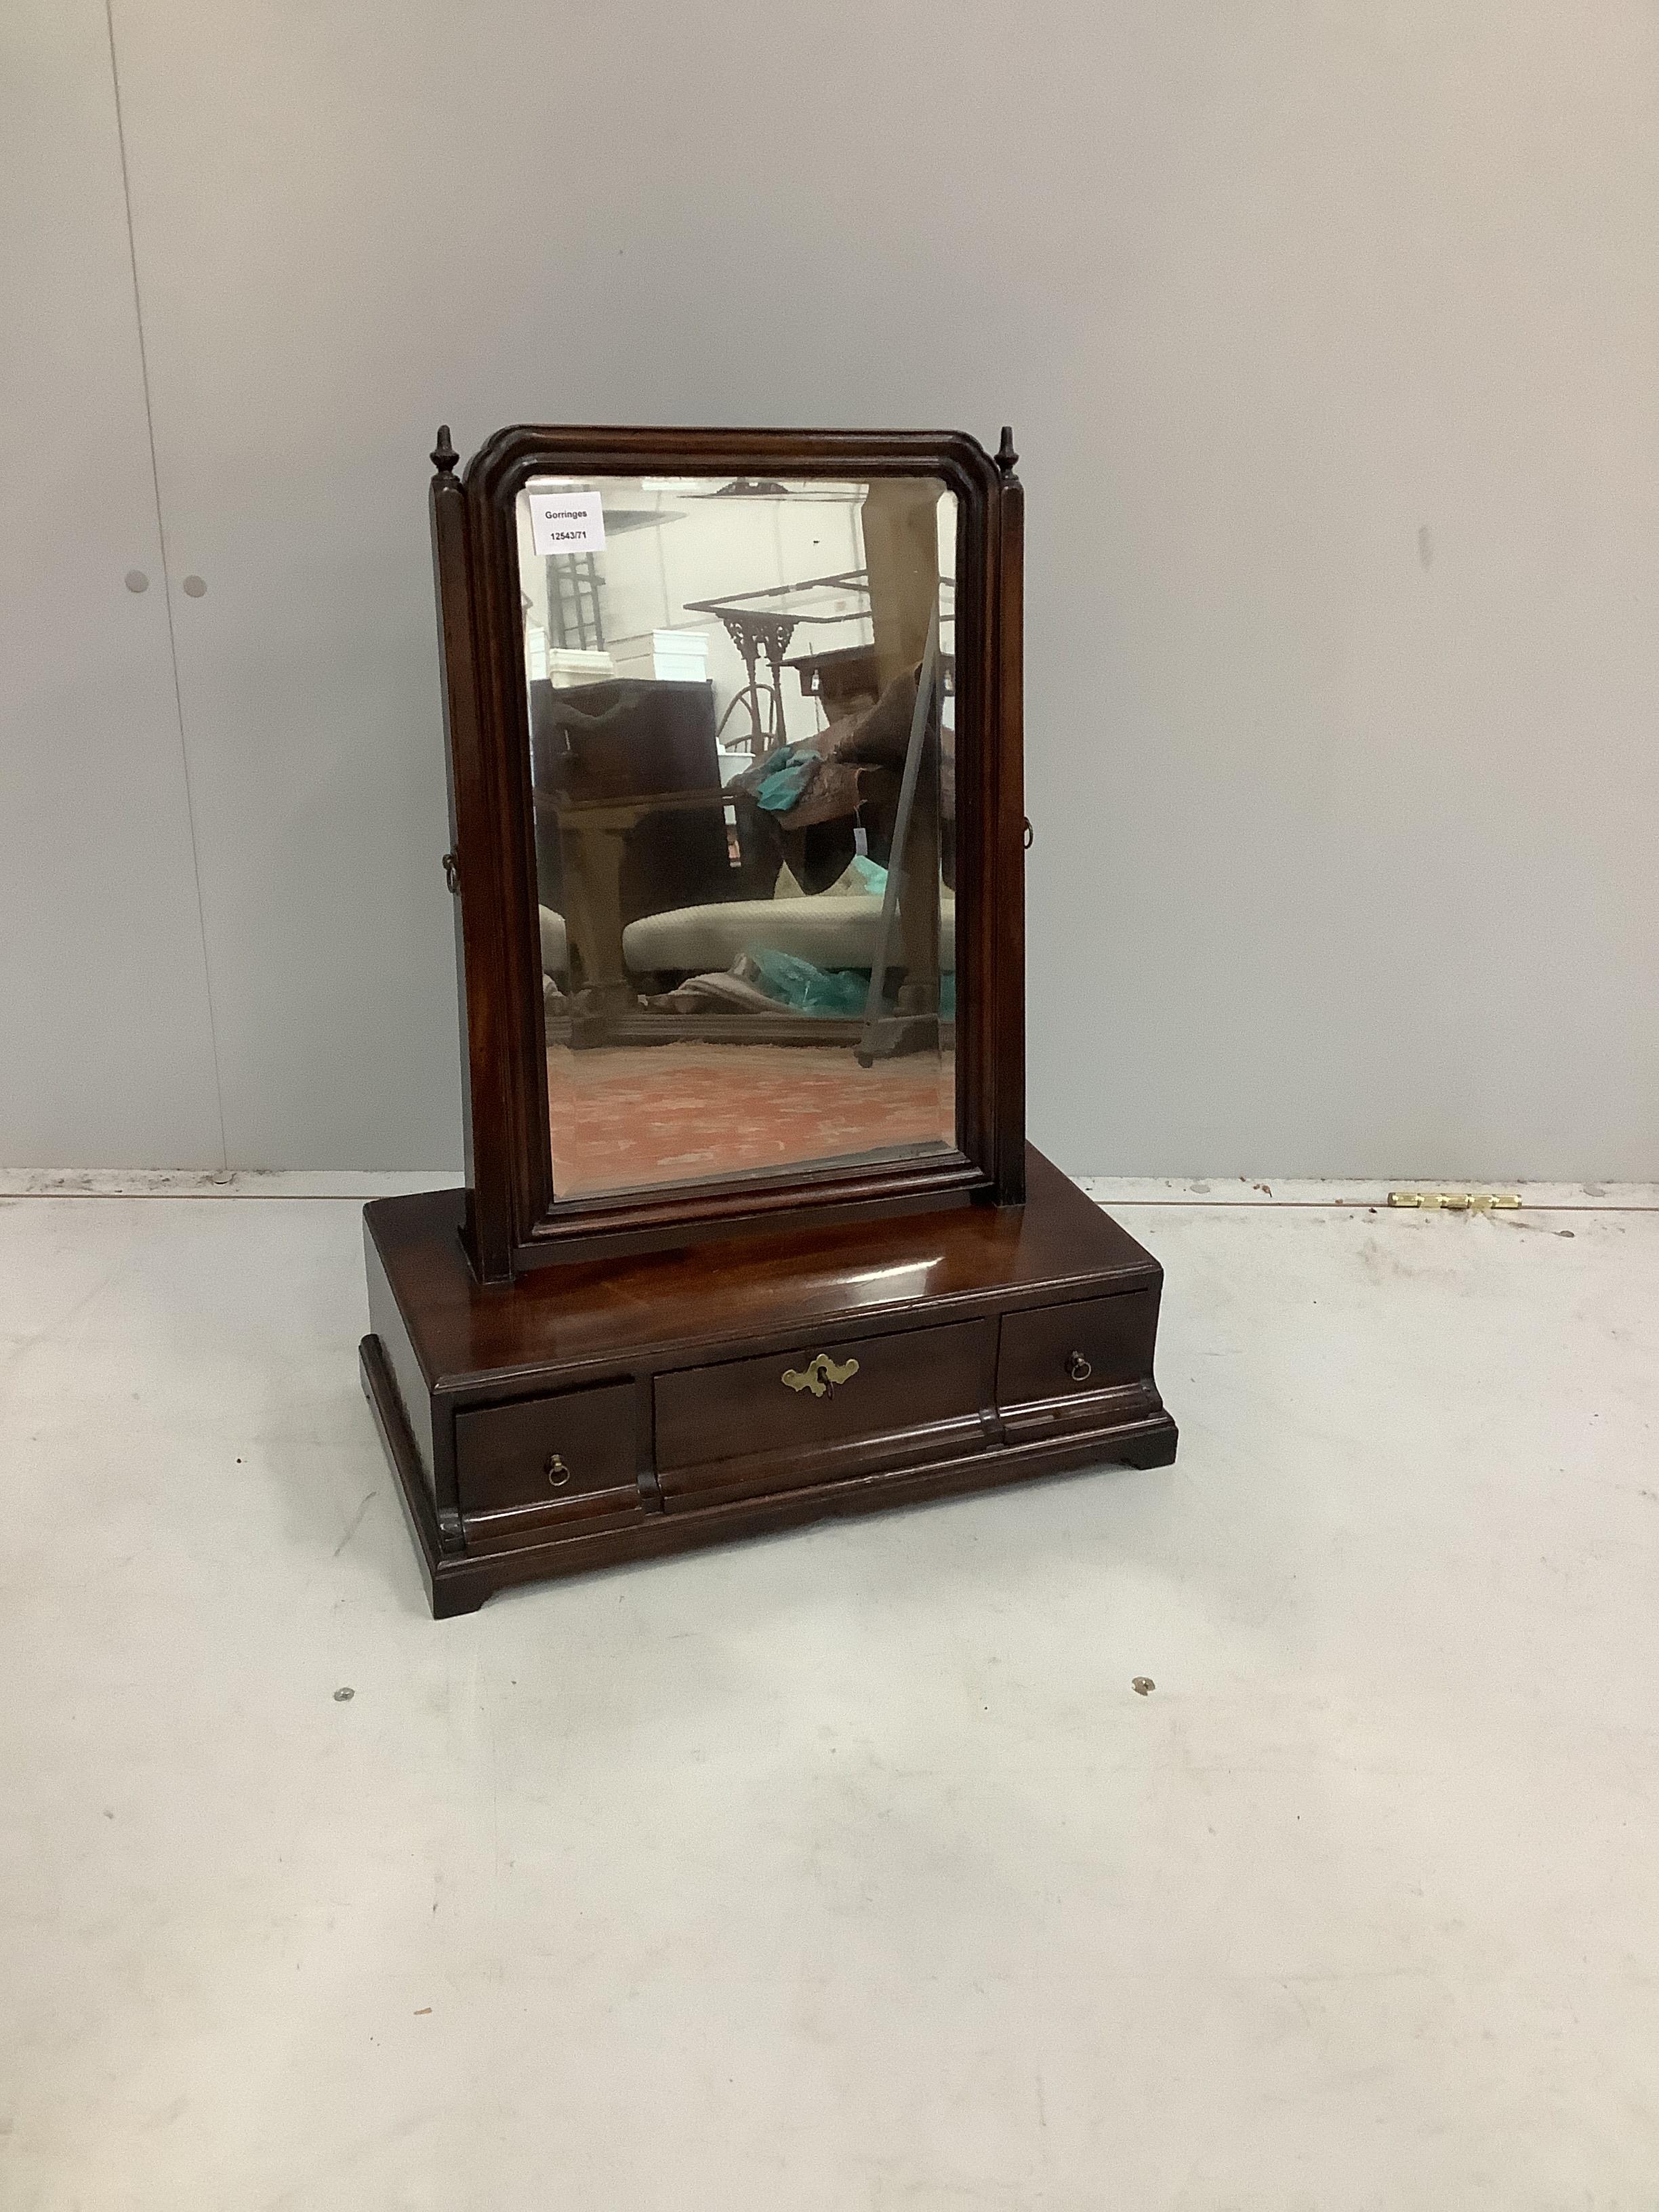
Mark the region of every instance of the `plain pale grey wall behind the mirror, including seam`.
[[1659, 1175], [1650, 0], [113, 33], [133, 261], [4, 13], [0, 1155], [458, 1159], [440, 418], [1011, 418], [1037, 1141]]

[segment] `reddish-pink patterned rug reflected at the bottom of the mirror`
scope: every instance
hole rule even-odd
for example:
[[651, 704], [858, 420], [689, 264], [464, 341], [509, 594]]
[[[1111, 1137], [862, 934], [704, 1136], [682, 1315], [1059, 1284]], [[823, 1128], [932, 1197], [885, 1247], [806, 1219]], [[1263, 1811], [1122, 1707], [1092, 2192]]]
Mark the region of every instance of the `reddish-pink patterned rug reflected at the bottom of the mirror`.
[[566, 1199], [956, 1141], [949, 1055], [860, 1068], [845, 1044], [555, 1044], [546, 1091]]

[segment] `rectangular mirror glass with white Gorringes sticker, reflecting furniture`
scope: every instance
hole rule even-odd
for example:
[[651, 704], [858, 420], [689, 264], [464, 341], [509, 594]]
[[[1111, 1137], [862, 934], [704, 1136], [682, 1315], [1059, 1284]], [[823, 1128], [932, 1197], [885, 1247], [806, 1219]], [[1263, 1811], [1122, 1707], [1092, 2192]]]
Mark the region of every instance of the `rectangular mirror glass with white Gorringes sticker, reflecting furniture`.
[[956, 498], [518, 498], [560, 1199], [956, 1146]]

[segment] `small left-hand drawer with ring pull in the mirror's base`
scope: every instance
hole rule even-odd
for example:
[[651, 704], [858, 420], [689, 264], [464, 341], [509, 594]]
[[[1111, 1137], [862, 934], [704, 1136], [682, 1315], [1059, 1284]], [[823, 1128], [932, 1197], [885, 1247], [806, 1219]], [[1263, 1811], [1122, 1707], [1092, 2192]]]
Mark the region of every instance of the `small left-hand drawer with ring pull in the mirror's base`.
[[639, 1504], [633, 1407], [633, 1383], [604, 1383], [456, 1413], [462, 1515], [524, 1506], [584, 1515]]

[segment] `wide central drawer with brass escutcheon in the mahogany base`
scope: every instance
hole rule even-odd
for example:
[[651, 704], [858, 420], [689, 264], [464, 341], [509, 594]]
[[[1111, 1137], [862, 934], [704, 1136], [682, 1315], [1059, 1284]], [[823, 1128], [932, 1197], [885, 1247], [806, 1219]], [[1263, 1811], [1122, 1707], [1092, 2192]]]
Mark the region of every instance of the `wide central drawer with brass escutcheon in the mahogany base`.
[[723, 1360], [657, 1376], [657, 1480], [684, 1491], [743, 1491], [757, 1480], [823, 1480], [836, 1447], [905, 1440], [927, 1449], [960, 1427], [982, 1442], [993, 1402], [995, 1321], [958, 1321], [898, 1336], [825, 1338], [761, 1360]]

